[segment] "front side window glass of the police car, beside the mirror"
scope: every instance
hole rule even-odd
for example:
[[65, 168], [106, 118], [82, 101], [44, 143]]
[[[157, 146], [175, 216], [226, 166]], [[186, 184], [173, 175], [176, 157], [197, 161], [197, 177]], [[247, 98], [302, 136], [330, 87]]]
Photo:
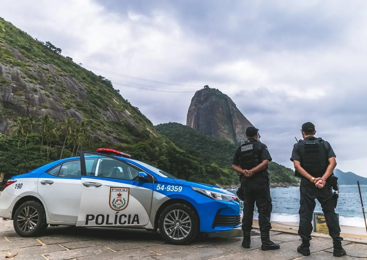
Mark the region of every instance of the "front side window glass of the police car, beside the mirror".
[[103, 158], [99, 162], [98, 176], [119, 180], [138, 181], [139, 170], [116, 159]]

